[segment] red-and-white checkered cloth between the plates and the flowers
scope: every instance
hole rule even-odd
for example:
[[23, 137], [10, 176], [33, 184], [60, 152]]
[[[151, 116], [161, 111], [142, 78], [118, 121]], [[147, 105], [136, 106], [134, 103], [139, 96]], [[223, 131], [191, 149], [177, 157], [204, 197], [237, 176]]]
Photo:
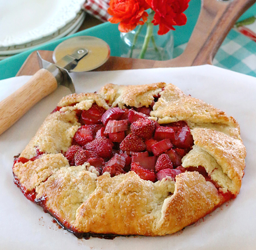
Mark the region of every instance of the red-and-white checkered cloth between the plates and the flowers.
[[111, 17], [111, 15], [108, 14], [109, 1], [110, 0], [86, 0], [84, 9], [102, 22], [107, 22], [108, 18]]

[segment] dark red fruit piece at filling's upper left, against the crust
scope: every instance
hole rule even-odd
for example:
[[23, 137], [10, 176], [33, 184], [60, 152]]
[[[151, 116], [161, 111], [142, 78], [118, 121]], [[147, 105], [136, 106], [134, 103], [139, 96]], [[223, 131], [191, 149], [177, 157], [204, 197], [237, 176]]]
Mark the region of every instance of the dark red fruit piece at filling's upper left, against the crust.
[[105, 111], [106, 109], [93, 103], [90, 109], [82, 111], [81, 120], [84, 124], [100, 124]]

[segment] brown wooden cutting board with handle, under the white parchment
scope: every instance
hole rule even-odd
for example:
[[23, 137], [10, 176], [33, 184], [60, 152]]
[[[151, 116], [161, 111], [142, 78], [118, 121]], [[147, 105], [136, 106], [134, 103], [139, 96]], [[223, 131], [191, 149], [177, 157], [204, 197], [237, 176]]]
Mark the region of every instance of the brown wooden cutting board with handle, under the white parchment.
[[[179, 57], [166, 61], [110, 57], [95, 71], [212, 64], [215, 54], [236, 20], [255, 2], [256, 0], [202, 0], [195, 29]], [[52, 51], [40, 51], [40, 55], [53, 62]], [[34, 75], [39, 69], [36, 52], [33, 52], [23, 63], [17, 76]]]

